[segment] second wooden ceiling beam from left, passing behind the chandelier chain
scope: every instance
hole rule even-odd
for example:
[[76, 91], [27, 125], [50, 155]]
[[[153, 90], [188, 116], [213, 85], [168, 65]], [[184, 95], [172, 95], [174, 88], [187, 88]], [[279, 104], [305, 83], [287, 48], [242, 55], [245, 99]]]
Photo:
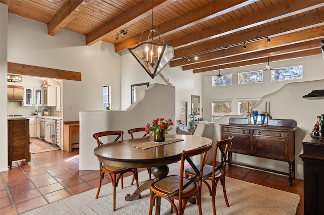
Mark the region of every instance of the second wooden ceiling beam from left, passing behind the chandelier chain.
[[[153, 1], [153, 8], [159, 10], [160, 8], [164, 8], [174, 1], [175, 0]], [[151, 10], [151, 1], [140, 1], [130, 10], [125, 11], [124, 13], [120, 14], [119, 16], [115, 17], [106, 24], [100, 26], [99, 28], [86, 35], [87, 45], [92, 45], [101, 40], [106, 34], [126, 28], [127, 26], [143, 19], [151, 13]]]

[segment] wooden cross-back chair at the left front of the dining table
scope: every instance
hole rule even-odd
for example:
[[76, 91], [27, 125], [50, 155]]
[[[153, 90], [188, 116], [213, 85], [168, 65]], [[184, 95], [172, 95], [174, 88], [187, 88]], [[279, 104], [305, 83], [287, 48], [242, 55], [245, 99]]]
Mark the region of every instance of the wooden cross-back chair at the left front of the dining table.
[[[97, 140], [98, 146], [103, 145], [104, 143], [99, 140], [108, 136], [117, 136], [114, 140], [114, 142], [118, 141], [123, 141], [123, 131], [103, 131], [103, 132], [98, 132], [93, 135], [93, 137]], [[114, 137], [113, 136], [113, 137]], [[120, 168], [120, 167], [113, 167], [110, 165], [102, 164], [99, 162], [99, 186], [98, 186], [98, 191], [96, 198], [98, 198], [100, 188], [101, 188], [101, 182], [104, 178], [105, 173], [108, 175], [111, 185], [113, 187], [113, 204], [112, 204], [112, 210], [116, 210], [116, 187], [118, 185], [119, 179], [121, 180], [121, 189], [124, 188], [124, 182], [123, 182], [123, 175], [125, 173], [131, 172], [133, 174], [133, 179], [135, 178], [136, 180], [136, 187], [138, 187], [138, 176], [137, 176], [137, 168]]]

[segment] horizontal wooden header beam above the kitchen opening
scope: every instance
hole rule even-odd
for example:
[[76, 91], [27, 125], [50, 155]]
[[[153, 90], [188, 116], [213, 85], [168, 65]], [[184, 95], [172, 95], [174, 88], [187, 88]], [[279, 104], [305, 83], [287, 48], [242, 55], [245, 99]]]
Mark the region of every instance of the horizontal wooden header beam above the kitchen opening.
[[47, 67], [37, 67], [26, 64], [8, 62], [8, 73], [38, 76], [44, 78], [57, 78], [72, 81], [81, 81], [81, 73], [67, 70], [52, 69]]

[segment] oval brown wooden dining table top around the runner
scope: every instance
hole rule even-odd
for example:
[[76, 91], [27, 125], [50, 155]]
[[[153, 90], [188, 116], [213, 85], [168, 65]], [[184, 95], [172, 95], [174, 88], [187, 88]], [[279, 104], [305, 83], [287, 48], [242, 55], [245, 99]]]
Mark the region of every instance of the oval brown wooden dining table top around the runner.
[[181, 160], [183, 150], [191, 150], [212, 143], [212, 140], [206, 137], [177, 134], [167, 135], [167, 138], [183, 139], [184, 141], [148, 149], [130, 147], [130, 145], [153, 141], [153, 138], [150, 136], [104, 144], [96, 147], [94, 154], [101, 163], [115, 167], [158, 167]]

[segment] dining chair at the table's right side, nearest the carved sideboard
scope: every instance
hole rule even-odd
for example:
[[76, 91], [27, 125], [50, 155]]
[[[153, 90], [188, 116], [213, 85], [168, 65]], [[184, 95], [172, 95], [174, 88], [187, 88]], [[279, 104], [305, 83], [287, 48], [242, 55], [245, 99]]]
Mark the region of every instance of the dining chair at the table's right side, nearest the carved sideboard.
[[[216, 206], [215, 206], [215, 196], [216, 196], [216, 186], [218, 181], [221, 181], [221, 185], [223, 186], [223, 193], [226, 202], [226, 206], [229, 207], [229, 203], [226, 195], [226, 187], [225, 187], [225, 176], [226, 176], [226, 159], [228, 147], [232, 144], [234, 137], [231, 136], [228, 139], [221, 140], [216, 142], [216, 147], [214, 148], [213, 155], [213, 165], [205, 165], [203, 168], [203, 182], [207, 185], [209, 189], [209, 194], [212, 196], [213, 201], [213, 213], [216, 214]], [[217, 157], [217, 149], [221, 152], [221, 162], [216, 161]], [[197, 168], [199, 166], [197, 165]], [[192, 167], [186, 169], [185, 171], [186, 178], [191, 178], [195, 176], [195, 171]], [[212, 181], [212, 187], [206, 181]]]

